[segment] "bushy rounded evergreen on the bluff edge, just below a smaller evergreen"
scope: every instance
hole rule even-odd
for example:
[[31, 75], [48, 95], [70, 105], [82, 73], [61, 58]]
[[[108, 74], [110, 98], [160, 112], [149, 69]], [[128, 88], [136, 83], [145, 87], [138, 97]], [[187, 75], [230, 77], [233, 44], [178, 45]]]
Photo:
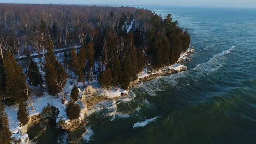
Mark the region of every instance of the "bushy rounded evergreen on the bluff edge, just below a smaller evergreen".
[[65, 111], [70, 120], [75, 120], [79, 118], [81, 109], [78, 104], [76, 104], [73, 100], [70, 100]]

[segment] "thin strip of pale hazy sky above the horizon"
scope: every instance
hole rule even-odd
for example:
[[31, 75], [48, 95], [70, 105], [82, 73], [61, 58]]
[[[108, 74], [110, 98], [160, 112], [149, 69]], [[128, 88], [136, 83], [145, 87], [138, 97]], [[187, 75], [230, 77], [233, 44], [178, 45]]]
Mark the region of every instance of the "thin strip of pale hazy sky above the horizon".
[[0, 0], [0, 3], [37, 4], [116, 4], [116, 5], [173, 5], [210, 7], [252, 7], [256, 0]]

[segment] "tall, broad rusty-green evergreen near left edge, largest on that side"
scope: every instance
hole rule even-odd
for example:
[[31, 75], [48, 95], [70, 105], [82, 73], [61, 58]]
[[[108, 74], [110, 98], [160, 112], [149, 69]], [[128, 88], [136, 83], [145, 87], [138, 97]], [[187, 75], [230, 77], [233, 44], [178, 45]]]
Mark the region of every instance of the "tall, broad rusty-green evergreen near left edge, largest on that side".
[[6, 75], [6, 93], [10, 96], [10, 104], [21, 103], [27, 100], [20, 90], [26, 87], [26, 77], [20, 65], [17, 64], [12, 53], [8, 52], [4, 59], [4, 73]]

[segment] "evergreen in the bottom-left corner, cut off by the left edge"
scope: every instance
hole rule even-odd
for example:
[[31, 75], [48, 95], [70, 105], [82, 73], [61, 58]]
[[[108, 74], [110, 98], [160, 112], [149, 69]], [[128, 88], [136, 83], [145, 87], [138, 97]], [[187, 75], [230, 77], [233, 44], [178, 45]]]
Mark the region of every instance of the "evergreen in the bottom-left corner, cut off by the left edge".
[[4, 105], [0, 102], [0, 144], [11, 144], [12, 132], [9, 129], [8, 115], [4, 112]]

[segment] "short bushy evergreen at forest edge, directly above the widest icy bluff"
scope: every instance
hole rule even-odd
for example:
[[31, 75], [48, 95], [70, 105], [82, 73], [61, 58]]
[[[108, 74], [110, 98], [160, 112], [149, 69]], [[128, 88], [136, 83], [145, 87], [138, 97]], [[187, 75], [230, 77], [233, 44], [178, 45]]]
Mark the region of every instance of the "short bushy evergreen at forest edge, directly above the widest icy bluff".
[[100, 72], [98, 77], [98, 82], [99, 84], [101, 84], [102, 88], [110, 88], [112, 86], [111, 81], [112, 81], [112, 74], [109, 68]]

